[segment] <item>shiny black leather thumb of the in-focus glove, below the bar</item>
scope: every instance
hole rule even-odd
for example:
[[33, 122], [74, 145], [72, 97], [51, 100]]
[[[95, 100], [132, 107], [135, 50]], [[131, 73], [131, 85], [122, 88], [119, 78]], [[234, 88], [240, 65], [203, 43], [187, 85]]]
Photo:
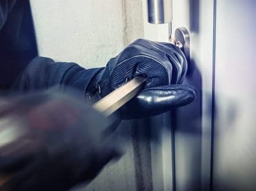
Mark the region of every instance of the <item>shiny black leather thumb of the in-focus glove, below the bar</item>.
[[121, 118], [143, 118], [159, 115], [190, 104], [196, 89], [190, 85], [164, 85], [145, 89], [119, 110]]

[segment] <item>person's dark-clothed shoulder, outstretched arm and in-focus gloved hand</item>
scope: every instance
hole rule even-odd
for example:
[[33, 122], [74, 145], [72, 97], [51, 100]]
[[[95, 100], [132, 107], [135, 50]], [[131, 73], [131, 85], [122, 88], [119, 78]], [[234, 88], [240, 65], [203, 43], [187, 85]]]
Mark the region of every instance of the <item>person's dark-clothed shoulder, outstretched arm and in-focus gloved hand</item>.
[[[174, 85], [185, 77], [187, 62], [183, 53], [169, 43], [139, 39], [112, 58], [106, 69], [86, 70], [76, 63], [36, 57], [29, 1], [17, 0], [0, 37], [4, 39], [0, 45], [0, 87], [14, 84], [14, 91], [29, 92], [58, 85], [81, 97], [89, 94], [99, 100], [126, 80], [146, 76], [145, 91], [124, 107], [123, 118], [142, 117], [141, 111], [145, 116], [158, 115], [189, 104], [196, 95], [193, 87]], [[157, 101], [159, 97], [161, 102]], [[139, 106], [139, 115], [134, 115], [134, 105]]]

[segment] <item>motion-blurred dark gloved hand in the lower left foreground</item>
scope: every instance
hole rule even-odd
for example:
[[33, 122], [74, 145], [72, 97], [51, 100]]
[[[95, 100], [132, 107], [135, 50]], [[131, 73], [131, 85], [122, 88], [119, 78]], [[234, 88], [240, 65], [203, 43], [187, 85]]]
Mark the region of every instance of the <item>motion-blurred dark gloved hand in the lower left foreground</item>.
[[121, 156], [111, 121], [76, 98], [48, 91], [0, 106], [0, 183], [10, 175], [0, 190], [67, 190]]

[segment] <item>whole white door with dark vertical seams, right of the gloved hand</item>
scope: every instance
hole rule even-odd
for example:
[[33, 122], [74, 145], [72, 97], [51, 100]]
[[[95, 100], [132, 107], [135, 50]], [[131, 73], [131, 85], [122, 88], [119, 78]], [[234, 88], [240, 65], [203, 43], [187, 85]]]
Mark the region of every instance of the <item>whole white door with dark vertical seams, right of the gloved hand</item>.
[[[163, 173], [165, 190], [255, 189], [255, 16], [252, 0], [173, 0], [172, 28], [191, 35], [185, 84], [196, 86], [198, 96], [167, 114], [163, 172], [172, 173]], [[148, 38], [165, 41], [167, 31], [149, 27]]]

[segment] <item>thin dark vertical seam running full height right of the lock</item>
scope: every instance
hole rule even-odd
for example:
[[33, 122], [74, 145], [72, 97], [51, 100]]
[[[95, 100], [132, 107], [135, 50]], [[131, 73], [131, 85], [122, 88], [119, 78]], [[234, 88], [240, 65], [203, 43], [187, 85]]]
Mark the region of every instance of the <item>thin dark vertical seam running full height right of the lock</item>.
[[213, 1], [213, 81], [211, 97], [211, 175], [210, 190], [213, 190], [213, 153], [214, 153], [214, 136], [215, 136], [215, 62], [216, 62], [216, 2]]

